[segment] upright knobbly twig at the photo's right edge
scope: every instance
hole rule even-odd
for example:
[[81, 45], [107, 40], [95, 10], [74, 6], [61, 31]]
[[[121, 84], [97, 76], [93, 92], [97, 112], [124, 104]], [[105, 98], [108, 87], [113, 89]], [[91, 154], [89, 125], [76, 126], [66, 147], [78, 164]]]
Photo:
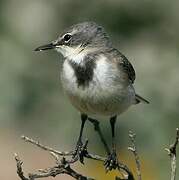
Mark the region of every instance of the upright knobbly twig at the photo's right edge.
[[173, 144], [170, 145], [169, 148], [165, 148], [165, 150], [168, 152], [168, 155], [170, 156], [171, 161], [171, 180], [176, 179], [176, 148], [179, 143], [179, 128], [176, 129], [176, 139]]

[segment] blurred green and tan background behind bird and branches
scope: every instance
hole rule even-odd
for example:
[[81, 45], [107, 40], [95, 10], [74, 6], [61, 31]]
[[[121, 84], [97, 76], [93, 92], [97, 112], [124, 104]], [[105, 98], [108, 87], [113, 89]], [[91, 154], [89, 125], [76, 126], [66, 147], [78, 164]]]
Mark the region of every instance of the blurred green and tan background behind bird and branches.
[[[47, 153], [24, 143], [22, 134], [59, 150], [74, 148], [80, 119], [61, 88], [62, 57], [33, 49], [69, 25], [90, 20], [104, 26], [132, 62], [135, 88], [151, 102], [131, 107], [118, 118], [119, 158], [135, 168], [127, 151], [128, 131], [133, 130], [143, 179], [168, 180], [170, 162], [164, 148], [179, 126], [178, 7], [178, 0], [0, 0], [0, 179], [18, 180], [14, 152], [26, 172], [53, 164]], [[110, 142], [109, 122], [101, 125]], [[104, 155], [89, 123], [84, 138], [89, 138], [90, 151]], [[94, 161], [75, 168], [100, 180], [114, 179], [114, 173], [106, 175]]]

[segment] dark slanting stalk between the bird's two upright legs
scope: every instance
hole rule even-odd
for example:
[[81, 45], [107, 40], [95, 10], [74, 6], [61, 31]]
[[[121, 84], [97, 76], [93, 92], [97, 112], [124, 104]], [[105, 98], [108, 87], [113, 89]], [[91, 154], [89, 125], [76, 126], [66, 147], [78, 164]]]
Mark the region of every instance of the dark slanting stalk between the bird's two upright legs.
[[103, 136], [103, 134], [102, 134], [102, 132], [101, 132], [101, 128], [100, 128], [100, 125], [99, 125], [99, 121], [96, 120], [96, 119], [92, 119], [92, 118], [88, 118], [88, 120], [89, 120], [91, 123], [93, 123], [94, 129], [95, 129], [95, 131], [97, 131], [97, 133], [98, 133], [98, 135], [99, 135], [99, 137], [100, 137], [100, 139], [101, 139], [101, 142], [103, 143], [104, 148], [105, 148], [107, 154], [109, 155], [109, 154], [110, 154], [110, 149], [109, 149], [109, 147], [108, 147], [108, 145], [107, 145], [107, 143], [106, 143], [106, 141], [105, 141], [105, 139], [104, 139], [104, 136]]

